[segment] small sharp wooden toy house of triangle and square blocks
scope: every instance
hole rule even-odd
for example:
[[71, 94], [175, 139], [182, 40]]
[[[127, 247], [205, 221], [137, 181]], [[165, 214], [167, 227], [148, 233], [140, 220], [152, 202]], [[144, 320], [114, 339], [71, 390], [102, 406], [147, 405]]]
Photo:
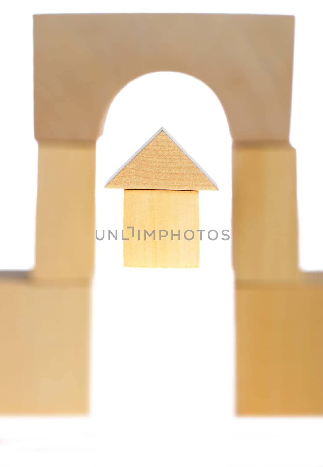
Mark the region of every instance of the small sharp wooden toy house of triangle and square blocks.
[[217, 184], [161, 127], [106, 182], [124, 189], [124, 265], [199, 266], [199, 190]]

